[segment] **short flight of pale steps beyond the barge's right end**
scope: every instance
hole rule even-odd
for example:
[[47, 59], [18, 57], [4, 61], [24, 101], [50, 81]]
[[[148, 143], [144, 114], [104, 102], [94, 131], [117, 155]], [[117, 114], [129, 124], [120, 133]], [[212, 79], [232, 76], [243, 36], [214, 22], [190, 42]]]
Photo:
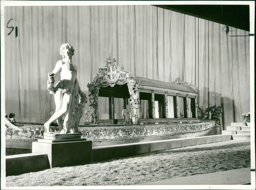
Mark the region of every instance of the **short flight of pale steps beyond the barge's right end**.
[[231, 135], [233, 140], [250, 140], [250, 133], [249, 123], [231, 123], [231, 126], [227, 126], [227, 130], [222, 131], [221, 134]]

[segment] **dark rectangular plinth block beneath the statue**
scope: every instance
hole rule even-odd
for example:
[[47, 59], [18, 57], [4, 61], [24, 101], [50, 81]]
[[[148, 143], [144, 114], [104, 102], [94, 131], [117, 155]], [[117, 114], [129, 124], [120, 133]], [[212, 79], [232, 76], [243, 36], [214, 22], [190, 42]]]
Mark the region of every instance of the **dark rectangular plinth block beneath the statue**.
[[92, 141], [38, 139], [37, 142], [32, 143], [32, 153], [47, 154], [50, 168], [91, 164]]

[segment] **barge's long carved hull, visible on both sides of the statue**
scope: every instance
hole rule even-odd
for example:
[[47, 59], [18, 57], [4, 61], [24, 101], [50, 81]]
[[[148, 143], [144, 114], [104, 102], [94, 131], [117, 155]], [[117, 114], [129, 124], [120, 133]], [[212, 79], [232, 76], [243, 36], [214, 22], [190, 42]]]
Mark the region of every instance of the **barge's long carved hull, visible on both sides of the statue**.
[[[215, 112], [220, 113], [221, 107], [217, 107]], [[216, 116], [216, 115], [215, 115]], [[215, 117], [214, 114], [212, 116]], [[217, 118], [218, 116], [216, 116]], [[110, 139], [127, 139], [127, 138], [143, 138], [155, 136], [168, 136], [178, 134], [191, 134], [200, 131], [205, 131], [213, 128], [219, 120], [212, 120], [203, 123], [184, 123], [184, 124], [158, 124], [158, 125], [133, 125], [133, 126], [88, 126], [79, 127], [82, 132], [81, 138], [87, 140], [110, 140]], [[23, 130], [15, 131], [12, 128], [5, 128], [6, 140], [28, 141], [33, 142], [37, 139], [43, 139], [44, 126], [43, 125], [20, 125]], [[53, 132], [57, 132], [51, 129]]]

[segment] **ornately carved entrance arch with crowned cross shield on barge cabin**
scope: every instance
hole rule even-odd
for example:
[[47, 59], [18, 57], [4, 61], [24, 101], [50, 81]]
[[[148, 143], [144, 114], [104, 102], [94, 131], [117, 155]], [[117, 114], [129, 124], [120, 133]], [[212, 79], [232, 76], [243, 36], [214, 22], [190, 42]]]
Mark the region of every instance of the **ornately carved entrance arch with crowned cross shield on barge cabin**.
[[127, 70], [124, 70], [123, 65], [115, 66], [115, 58], [111, 55], [105, 60], [107, 68], [99, 68], [97, 76], [92, 83], [88, 83], [90, 106], [94, 109], [92, 121], [98, 124], [98, 97], [100, 87], [113, 87], [116, 84], [122, 85], [127, 83], [130, 93], [130, 106], [132, 110], [132, 122], [138, 123], [140, 119], [140, 94], [138, 85], [134, 80], [134, 76]]

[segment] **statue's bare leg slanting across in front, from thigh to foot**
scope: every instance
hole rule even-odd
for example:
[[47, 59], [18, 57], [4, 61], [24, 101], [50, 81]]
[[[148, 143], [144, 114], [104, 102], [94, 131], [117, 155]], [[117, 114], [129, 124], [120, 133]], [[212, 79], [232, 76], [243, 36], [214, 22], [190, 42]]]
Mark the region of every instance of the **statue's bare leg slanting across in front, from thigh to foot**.
[[[70, 103], [71, 103], [71, 95], [72, 94], [66, 94], [66, 93], [62, 93], [63, 94], [63, 98], [62, 98], [62, 105], [61, 105], [61, 108], [58, 109], [53, 115], [52, 117], [46, 122], [44, 123], [44, 127], [46, 128], [46, 132], [47, 133], [50, 133], [49, 129], [50, 129], [50, 124], [57, 120], [57, 119], [62, 119], [62, 115], [65, 114], [67, 111], [68, 111], [68, 108], [70, 106]], [[61, 98], [61, 96], [57, 96], [59, 98]], [[56, 98], [57, 98], [56, 97]], [[61, 99], [59, 99], [61, 100]], [[62, 123], [62, 122], [61, 122]]]

